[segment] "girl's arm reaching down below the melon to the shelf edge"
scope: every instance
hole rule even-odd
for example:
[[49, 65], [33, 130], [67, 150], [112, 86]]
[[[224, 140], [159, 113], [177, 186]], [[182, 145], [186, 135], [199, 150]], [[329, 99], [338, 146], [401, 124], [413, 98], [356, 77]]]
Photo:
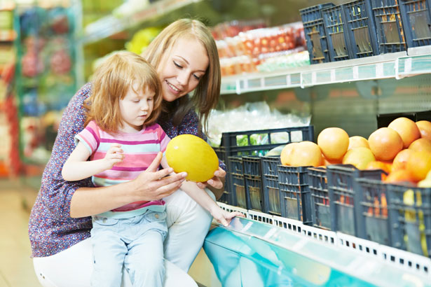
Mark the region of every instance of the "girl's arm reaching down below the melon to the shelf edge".
[[[169, 168], [165, 157], [163, 157], [161, 165], [164, 169]], [[244, 216], [238, 211], [228, 212], [224, 209], [221, 209], [221, 207], [219, 207], [219, 205], [214, 202], [214, 200], [212, 200], [210, 195], [208, 195], [205, 190], [198, 187], [196, 182], [184, 181], [184, 183], [182, 183], [181, 189], [184, 190], [184, 192], [187, 193], [187, 195], [189, 195], [201, 207], [210, 212], [212, 217], [214, 217], [217, 221], [219, 221], [219, 223], [224, 226], [228, 226], [231, 222], [231, 219], [235, 216]]]

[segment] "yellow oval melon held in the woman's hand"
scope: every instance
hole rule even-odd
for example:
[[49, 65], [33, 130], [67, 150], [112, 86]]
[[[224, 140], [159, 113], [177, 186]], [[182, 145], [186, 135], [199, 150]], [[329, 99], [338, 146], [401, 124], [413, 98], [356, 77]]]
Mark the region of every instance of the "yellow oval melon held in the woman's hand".
[[189, 181], [205, 182], [219, 169], [219, 158], [212, 147], [200, 137], [181, 134], [166, 147], [167, 164], [175, 172], [187, 172]]

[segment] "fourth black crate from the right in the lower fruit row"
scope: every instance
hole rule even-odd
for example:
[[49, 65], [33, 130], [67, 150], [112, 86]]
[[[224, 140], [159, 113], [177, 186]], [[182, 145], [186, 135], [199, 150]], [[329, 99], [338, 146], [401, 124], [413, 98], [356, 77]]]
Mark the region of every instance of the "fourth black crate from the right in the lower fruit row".
[[324, 167], [309, 167], [307, 172], [313, 226], [331, 230], [327, 170]]

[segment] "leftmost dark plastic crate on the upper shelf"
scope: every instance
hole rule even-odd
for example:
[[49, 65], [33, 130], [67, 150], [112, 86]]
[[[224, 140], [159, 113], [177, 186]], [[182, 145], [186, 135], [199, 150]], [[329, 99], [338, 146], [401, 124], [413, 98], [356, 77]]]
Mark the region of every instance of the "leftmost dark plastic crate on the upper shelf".
[[334, 6], [333, 3], [324, 3], [299, 10], [306, 35], [310, 64], [330, 62], [327, 36], [320, 10], [332, 6]]

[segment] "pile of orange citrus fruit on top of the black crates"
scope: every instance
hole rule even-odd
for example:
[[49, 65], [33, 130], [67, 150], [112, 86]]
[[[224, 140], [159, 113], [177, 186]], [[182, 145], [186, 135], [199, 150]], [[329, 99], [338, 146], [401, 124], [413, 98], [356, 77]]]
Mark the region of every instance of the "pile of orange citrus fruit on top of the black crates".
[[431, 187], [431, 122], [397, 118], [368, 139], [328, 127], [318, 135], [317, 144], [287, 144], [280, 159], [282, 165], [295, 167], [350, 164], [357, 169], [382, 169], [388, 174], [384, 181]]

